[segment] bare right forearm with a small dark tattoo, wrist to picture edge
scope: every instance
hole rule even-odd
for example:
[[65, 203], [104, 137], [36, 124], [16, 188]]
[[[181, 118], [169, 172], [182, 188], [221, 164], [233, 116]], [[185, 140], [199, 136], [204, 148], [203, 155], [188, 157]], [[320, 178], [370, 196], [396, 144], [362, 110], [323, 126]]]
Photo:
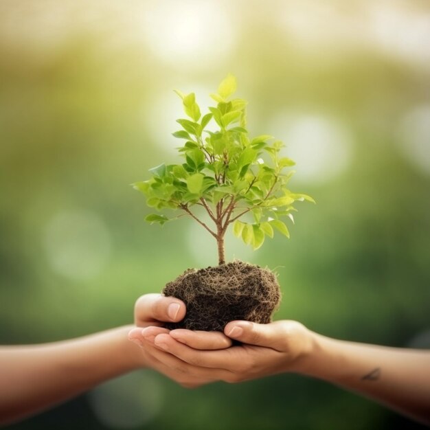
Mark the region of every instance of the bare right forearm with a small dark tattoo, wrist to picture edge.
[[430, 424], [430, 352], [315, 335], [302, 373], [341, 385]]

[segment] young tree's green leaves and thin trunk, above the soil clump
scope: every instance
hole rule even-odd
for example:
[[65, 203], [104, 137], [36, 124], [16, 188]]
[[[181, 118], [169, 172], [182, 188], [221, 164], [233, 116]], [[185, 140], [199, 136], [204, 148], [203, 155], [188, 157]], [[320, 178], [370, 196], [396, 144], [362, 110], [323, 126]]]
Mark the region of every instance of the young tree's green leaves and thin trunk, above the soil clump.
[[[184, 157], [180, 164], [161, 164], [150, 169], [148, 181], [136, 182], [134, 188], [146, 196], [146, 203], [157, 210], [175, 210], [172, 218], [164, 214], [146, 216], [149, 223], [164, 223], [181, 216], [190, 216], [204, 227], [218, 246], [218, 264], [225, 264], [224, 237], [229, 225], [247, 245], [258, 249], [265, 236], [273, 238], [278, 230], [289, 238], [284, 218], [294, 222], [295, 201], [313, 201], [306, 194], [286, 188], [294, 171], [285, 172], [295, 162], [280, 157], [284, 146], [270, 135], [249, 137], [246, 128], [247, 102], [231, 98], [236, 91], [236, 78], [229, 74], [211, 94], [216, 106], [201, 115], [194, 93], [175, 91], [183, 102], [188, 119], [179, 119], [181, 130], [174, 137], [184, 139], [178, 148]], [[217, 130], [207, 124], [216, 122]], [[210, 223], [194, 211], [201, 206]], [[240, 220], [246, 214], [251, 218]]]

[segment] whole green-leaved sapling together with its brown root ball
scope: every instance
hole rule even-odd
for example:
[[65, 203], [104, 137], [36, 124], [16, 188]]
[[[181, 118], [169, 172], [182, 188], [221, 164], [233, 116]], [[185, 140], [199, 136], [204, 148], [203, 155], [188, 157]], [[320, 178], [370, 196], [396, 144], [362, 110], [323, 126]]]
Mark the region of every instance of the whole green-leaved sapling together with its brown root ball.
[[[146, 196], [148, 206], [164, 212], [146, 216], [148, 223], [164, 225], [188, 216], [206, 229], [216, 240], [218, 267], [189, 269], [168, 283], [163, 293], [185, 301], [188, 312], [179, 326], [186, 328], [222, 330], [231, 319], [269, 322], [280, 300], [278, 282], [267, 269], [240, 261], [226, 264], [225, 234], [233, 225], [234, 235], [253, 249], [260, 248], [266, 236], [273, 238], [274, 231], [289, 238], [284, 220], [294, 222], [293, 203], [314, 201], [288, 190], [294, 171], [287, 168], [295, 162], [280, 155], [282, 142], [270, 135], [249, 137], [247, 102], [231, 97], [236, 92], [234, 76], [229, 74], [218, 92], [210, 95], [216, 106], [209, 107], [205, 115], [194, 93], [175, 92], [188, 116], [177, 120], [181, 129], [173, 133], [185, 140], [178, 148], [183, 162], [162, 163], [150, 169], [148, 181], [133, 186]], [[209, 130], [209, 124], [216, 124], [216, 130]], [[202, 210], [196, 210], [199, 207]], [[167, 216], [168, 210], [174, 215]], [[264, 290], [266, 284], [270, 291]], [[226, 299], [229, 294], [233, 298]], [[219, 302], [220, 297], [225, 303]]]

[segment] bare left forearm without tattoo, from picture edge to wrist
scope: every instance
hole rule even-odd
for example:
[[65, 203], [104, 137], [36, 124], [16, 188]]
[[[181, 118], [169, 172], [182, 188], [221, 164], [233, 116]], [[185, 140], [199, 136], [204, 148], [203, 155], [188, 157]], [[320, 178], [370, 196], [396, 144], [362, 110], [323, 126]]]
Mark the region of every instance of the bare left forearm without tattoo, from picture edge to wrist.
[[40, 346], [0, 348], [0, 422], [32, 414], [142, 367], [131, 326]]

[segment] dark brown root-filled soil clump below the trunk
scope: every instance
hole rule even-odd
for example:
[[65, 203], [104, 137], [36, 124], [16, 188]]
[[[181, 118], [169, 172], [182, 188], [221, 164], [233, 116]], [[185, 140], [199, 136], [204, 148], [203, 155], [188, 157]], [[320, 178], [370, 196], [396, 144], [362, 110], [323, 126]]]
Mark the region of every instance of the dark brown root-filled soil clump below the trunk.
[[273, 272], [241, 261], [188, 269], [166, 284], [162, 293], [181, 299], [187, 306], [182, 321], [165, 325], [170, 330], [223, 331], [234, 319], [267, 324], [281, 298]]

